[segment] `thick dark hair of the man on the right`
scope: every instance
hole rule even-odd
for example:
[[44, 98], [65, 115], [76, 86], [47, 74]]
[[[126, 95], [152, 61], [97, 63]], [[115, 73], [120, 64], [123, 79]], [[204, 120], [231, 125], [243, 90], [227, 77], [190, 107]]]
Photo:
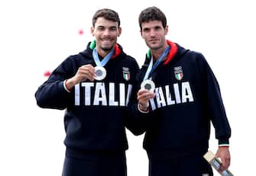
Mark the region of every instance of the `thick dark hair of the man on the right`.
[[165, 17], [165, 14], [163, 11], [160, 11], [157, 7], [149, 7], [145, 8], [143, 11], [141, 11], [141, 14], [138, 17], [138, 23], [141, 24], [144, 22], [149, 21], [161, 21], [163, 24], [163, 27], [167, 26], [167, 18]]

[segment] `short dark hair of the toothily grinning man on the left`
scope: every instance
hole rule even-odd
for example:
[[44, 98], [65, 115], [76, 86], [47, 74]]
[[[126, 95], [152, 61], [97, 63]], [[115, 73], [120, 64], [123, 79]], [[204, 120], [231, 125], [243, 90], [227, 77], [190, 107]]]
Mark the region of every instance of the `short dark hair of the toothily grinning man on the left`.
[[118, 27], [120, 26], [120, 19], [119, 19], [118, 13], [109, 8], [102, 8], [96, 11], [96, 13], [92, 17], [93, 27], [96, 24], [97, 19], [101, 17], [109, 21], [118, 22]]

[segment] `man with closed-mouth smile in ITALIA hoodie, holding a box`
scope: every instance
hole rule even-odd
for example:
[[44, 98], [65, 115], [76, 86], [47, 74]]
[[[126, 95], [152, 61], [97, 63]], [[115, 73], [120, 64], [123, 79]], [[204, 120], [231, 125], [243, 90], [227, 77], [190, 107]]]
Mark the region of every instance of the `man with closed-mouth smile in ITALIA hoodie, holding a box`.
[[167, 19], [159, 8], [144, 9], [138, 21], [149, 47], [138, 82], [150, 80], [154, 85], [153, 92], [143, 87], [138, 91], [139, 107], [148, 114], [142, 127], [149, 176], [212, 176], [203, 158], [211, 122], [219, 141], [215, 154], [222, 160], [219, 171], [227, 169], [231, 129], [219, 84], [206, 59], [166, 40]]

